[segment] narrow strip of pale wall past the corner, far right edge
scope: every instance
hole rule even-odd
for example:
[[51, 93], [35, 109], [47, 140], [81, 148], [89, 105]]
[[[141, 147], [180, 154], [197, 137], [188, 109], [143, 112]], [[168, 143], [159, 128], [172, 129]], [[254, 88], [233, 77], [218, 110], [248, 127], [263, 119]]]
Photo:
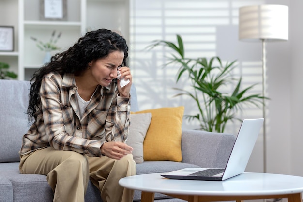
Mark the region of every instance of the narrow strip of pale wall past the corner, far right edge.
[[290, 1], [290, 68], [289, 73], [291, 80], [289, 82], [288, 91], [290, 92], [290, 113], [291, 124], [290, 134], [291, 139], [289, 158], [291, 159], [290, 169], [294, 175], [303, 176], [303, 27], [300, 22], [303, 18], [303, 1]]

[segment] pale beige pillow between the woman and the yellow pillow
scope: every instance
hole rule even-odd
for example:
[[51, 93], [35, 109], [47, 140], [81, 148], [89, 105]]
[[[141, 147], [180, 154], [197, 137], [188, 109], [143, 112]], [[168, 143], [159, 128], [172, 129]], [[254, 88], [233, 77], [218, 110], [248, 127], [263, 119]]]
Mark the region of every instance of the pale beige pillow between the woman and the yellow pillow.
[[131, 114], [131, 126], [127, 144], [133, 147], [133, 159], [136, 163], [143, 163], [143, 141], [151, 124], [152, 114]]

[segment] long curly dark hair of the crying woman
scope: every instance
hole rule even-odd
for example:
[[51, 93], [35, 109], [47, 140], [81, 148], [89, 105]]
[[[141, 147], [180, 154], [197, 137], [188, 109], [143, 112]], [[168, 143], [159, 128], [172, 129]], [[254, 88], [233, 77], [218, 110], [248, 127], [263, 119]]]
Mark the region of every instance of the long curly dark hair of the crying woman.
[[29, 121], [33, 121], [33, 118], [34, 121], [36, 119], [35, 113], [41, 102], [39, 90], [44, 75], [54, 72], [63, 77], [65, 73], [81, 73], [91, 61], [105, 58], [116, 50], [124, 52], [123, 65], [127, 66], [128, 47], [126, 40], [113, 31], [98, 29], [87, 32], [79, 38], [74, 46], [52, 56], [51, 61], [36, 71], [30, 80], [30, 100], [27, 109]]

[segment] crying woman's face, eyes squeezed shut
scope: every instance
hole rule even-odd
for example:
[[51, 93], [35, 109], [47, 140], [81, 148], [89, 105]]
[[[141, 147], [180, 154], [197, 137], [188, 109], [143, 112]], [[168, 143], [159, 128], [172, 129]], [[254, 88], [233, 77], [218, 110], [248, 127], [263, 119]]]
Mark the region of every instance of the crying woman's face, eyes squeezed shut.
[[124, 59], [123, 51], [114, 51], [107, 57], [90, 62], [91, 76], [101, 86], [109, 86], [113, 79], [117, 78], [118, 67], [121, 67]]

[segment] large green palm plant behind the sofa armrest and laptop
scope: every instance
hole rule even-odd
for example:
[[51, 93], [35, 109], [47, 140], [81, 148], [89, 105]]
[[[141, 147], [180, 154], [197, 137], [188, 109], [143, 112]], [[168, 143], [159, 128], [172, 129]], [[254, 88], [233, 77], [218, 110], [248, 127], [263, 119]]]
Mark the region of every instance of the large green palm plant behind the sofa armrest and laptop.
[[[170, 64], [180, 66], [176, 82], [183, 75], [189, 78], [190, 91], [180, 88], [174, 89], [180, 91], [176, 96], [189, 96], [197, 104], [198, 113], [185, 115], [185, 118], [198, 120], [200, 129], [224, 132], [229, 121], [240, 120], [236, 115], [244, 105], [252, 104], [259, 107], [263, 103], [263, 99], [267, 99], [261, 94], [249, 93], [256, 84], [242, 89], [242, 77], [234, 78], [232, 74], [232, 70], [236, 67], [236, 61], [223, 64], [219, 57], [212, 57], [209, 60], [207, 58], [185, 58], [182, 37], [178, 34], [177, 42], [178, 44], [155, 40], [147, 48], [164, 46], [173, 51], [165, 66]], [[224, 87], [226, 86], [233, 87], [231, 93], [225, 91]]]

